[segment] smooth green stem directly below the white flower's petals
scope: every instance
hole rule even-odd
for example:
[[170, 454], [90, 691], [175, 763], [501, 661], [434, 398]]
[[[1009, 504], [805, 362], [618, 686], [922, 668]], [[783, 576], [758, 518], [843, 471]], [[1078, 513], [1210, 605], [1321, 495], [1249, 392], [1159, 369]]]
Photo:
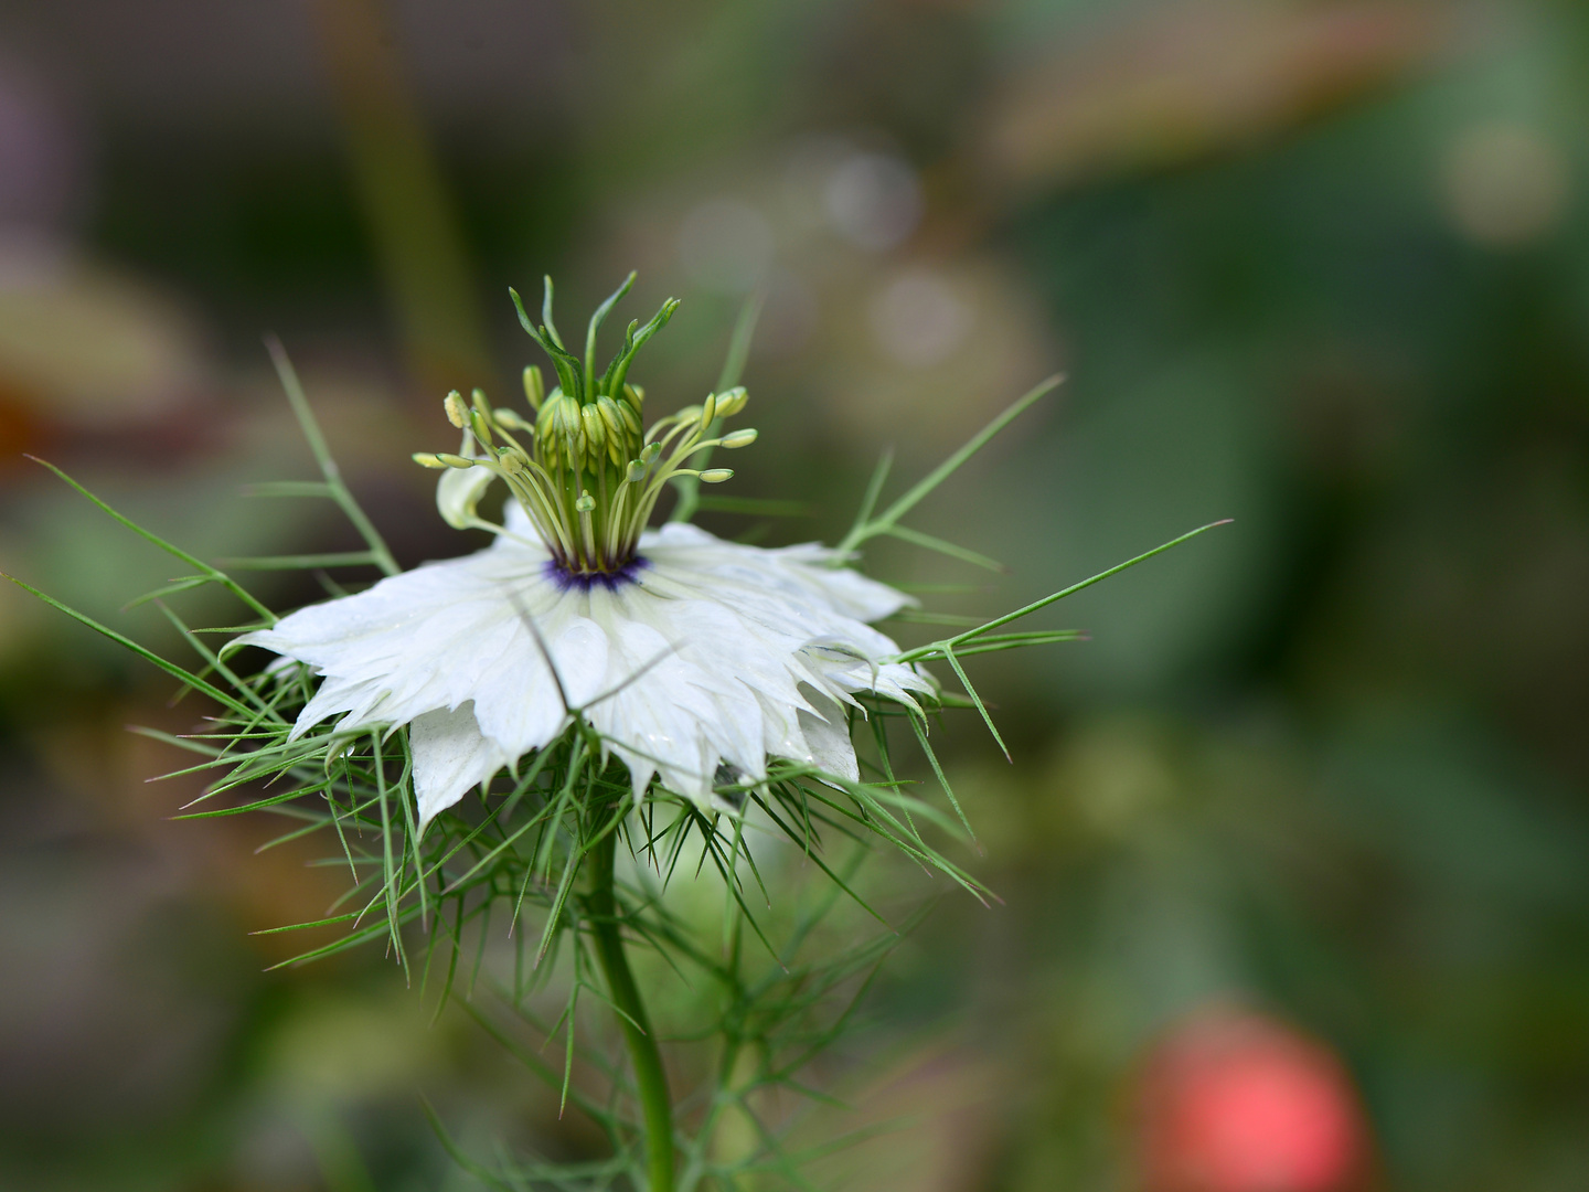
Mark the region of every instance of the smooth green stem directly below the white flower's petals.
[[623, 933], [618, 930], [618, 901], [613, 896], [612, 866], [617, 853], [618, 833], [609, 831], [590, 852], [586, 861], [590, 893], [585, 906], [590, 911], [591, 933], [596, 936], [596, 955], [607, 977], [607, 993], [621, 1012], [618, 1025], [629, 1047], [634, 1065], [634, 1082], [640, 1090], [640, 1109], [645, 1116], [645, 1157], [650, 1171], [648, 1192], [672, 1192], [674, 1187], [674, 1106], [667, 1095], [667, 1074], [663, 1071], [663, 1055], [656, 1049], [640, 990], [629, 971], [623, 952]]

